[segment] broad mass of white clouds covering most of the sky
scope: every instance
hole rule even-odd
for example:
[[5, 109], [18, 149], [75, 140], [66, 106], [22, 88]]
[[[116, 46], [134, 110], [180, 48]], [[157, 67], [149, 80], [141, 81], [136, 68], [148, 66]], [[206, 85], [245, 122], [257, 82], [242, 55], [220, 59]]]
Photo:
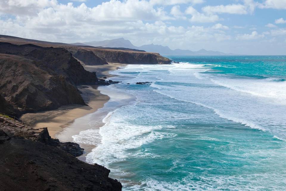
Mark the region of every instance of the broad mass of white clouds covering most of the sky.
[[[237, 3], [242, 1], [244, 3]], [[284, 43], [286, 29], [271, 28], [269, 32], [257, 33], [255, 30], [243, 32], [250, 34], [243, 34], [241, 30], [234, 28], [248, 30], [246, 28], [260, 28], [261, 26], [241, 24], [241, 26], [228, 27], [218, 23], [223, 22], [221, 20], [224, 18], [229, 19], [228, 22], [232, 22], [232, 26], [237, 24], [236, 20], [231, 20], [233, 17], [222, 15], [220, 18], [219, 14], [252, 13], [257, 7], [255, 1], [232, 0], [231, 2], [236, 3], [222, 5], [223, 7], [221, 5], [206, 6], [210, 8], [205, 7], [206, 11], [201, 11], [193, 8], [193, 5], [206, 1], [106, 0], [95, 7], [88, 7], [84, 3], [79, 6], [72, 3], [60, 4], [57, 0], [0, 0], [0, 34], [67, 43], [124, 37], [130, 39], [135, 45], [157, 43], [173, 48], [200, 47], [211, 50], [215, 49], [212, 46], [227, 47], [229, 45], [230, 47], [231, 44], [228, 41], [235, 39], [251, 40], [265, 37], [263, 41], [267, 41], [268, 44], [270, 38], [276, 38], [277, 42]], [[260, 0], [262, 1], [265, 0]], [[212, 5], [215, 2], [212, 2]], [[188, 8], [183, 10], [182, 4], [186, 4]], [[197, 23], [188, 27], [185, 22], [182, 22], [186, 25], [178, 26], [176, 22], [178, 19], [188, 19], [190, 22]], [[200, 23], [206, 22], [212, 24], [200, 26]], [[231, 30], [227, 30], [229, 28], [234, 33], [242, 34], [234, 34]], [[221, 41], [221, 43], [212, 43], [215, 41]], [[235, 47], [245, 46], [247, 48], [248, 44], [251, 47], [251, 44], [260, 42], [262, 41], [236, 41], [238, 45]], [[225, 51], [231, 50], [225, 48]], [[239, 51], [234, 52], [239, 53]]]

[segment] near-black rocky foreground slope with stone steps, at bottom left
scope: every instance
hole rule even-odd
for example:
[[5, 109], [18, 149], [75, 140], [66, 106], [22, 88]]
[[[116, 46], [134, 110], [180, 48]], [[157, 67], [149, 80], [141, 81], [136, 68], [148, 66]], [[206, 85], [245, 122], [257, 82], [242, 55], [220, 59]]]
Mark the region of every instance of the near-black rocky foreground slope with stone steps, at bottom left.
[[19, 128], [0, 118], [0, 185], [3, 191], [120, 191], [110, 170], [84, 163], [76, 143], [52, 139], [46, 128]]

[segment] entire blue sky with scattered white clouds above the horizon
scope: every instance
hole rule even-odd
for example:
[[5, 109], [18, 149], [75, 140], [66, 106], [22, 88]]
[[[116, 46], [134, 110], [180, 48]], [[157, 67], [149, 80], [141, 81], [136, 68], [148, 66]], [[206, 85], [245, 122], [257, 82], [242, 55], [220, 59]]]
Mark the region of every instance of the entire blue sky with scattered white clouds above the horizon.
[[0, 0], [0, 34], [286, 55], [286, 0]]

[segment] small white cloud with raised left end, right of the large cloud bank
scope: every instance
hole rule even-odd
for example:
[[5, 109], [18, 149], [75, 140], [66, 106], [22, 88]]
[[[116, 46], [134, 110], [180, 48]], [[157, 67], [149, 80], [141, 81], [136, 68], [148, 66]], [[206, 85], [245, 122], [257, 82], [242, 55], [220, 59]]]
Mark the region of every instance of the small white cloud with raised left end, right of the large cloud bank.
[[185, 13], [187, 15], [192, 15], [192, 17], [189, 19], [189, 21], [191, 22], [207, 23], [207, 22], [215, 22], [219, 20], [219, 17], [217, 15], [205, 15], [203, 13], [199, 13], [192, 6], [189, 6], [186, 9]]

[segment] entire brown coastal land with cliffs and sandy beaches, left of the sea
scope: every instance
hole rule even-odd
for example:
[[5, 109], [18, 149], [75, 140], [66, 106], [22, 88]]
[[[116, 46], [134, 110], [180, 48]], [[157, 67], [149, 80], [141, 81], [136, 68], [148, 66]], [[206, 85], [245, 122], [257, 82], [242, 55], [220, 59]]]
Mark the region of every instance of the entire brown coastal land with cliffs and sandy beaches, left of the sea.
[[[118, 181], [108, 178], [109, 170], [75, 158], [83, 150], [78, 144], [65, 144], [53, 138], [76, 118], [95, 112], [109, 100], [97, 87], [118, 83], [105, 80], [111, 77], [110, 70], [125, 64], [170, 63], [171, 60], [158, 53], [141, 50], [86, 47], [1, 35], [0, 113], [4, 118], [0, 124], [0, 150], [5, 154], [0, 159], [6, 161], [1, 163], [2, 169], [6, 168], [10, 174], [2, 181], [12, 185], [13, 180], [20, 180], [18, 170], [23, 177], [29, 177], [13, 184], [22, 190], [41, 190], [40, 185], [46, 190], [71, 187], [82, 190], [80, 184], [85, 190], [121, 190]], [[7, 123], [8, 116], [21, 117], [14, 122], [21, 127]], [[80, 154], [70, 152], [74, 149]], [[14, 166], [10, 164], [13, 160], [17, 160]], [[66, 175], [58, 178], [56, 174], [61, 173]], [[85, 181], [79, 176], [96, 178]], [[36, 180], [40, 180], [39, 184], [29, 183]]]

